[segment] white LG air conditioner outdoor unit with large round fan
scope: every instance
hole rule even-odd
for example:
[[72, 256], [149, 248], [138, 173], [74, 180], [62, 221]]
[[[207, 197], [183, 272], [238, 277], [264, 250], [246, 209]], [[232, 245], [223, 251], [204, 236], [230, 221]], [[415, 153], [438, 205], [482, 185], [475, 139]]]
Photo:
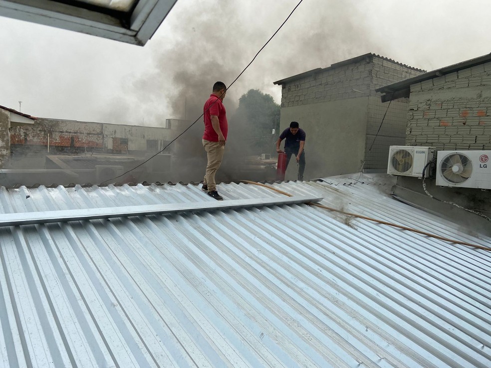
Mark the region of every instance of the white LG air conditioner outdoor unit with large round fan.
[[491, 189], [490, 158], [491, 151], [439, 151], [436, 184]]

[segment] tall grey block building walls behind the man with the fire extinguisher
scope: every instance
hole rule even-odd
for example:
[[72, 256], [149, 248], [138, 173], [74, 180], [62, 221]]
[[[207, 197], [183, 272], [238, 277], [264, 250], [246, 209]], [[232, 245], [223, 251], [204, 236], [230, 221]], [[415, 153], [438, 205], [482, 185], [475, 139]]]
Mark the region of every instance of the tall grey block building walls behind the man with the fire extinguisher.
[[306, 177], [353, 173], [361, 168], [385, 170], [389, 146], [405, 141], [408, 99], [391, 102], [377, 135], [389, 103], [381, 103], [375, 89], [423, 72], [371, 54], [284, 83], [280, 130], [291, 120], [306, 130], [305, 150], [311, 165], [307, 165]]

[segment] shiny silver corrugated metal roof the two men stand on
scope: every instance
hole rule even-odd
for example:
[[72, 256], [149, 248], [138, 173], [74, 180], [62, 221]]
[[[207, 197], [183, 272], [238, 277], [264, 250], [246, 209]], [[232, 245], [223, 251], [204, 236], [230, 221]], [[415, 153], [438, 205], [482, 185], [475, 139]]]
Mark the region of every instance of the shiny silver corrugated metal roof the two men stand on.
[[[273, 186], [481, 245], [385, 180]], [[220, 184], [225, 199], [282, 196]], [[27, 197], [28, 196], [28, 197]], [[0, 190], [0, 212], [214, 201], [196, 185]], [[0, 366], [490, 367], [491, 253], [306, 204], [0, 228]]]

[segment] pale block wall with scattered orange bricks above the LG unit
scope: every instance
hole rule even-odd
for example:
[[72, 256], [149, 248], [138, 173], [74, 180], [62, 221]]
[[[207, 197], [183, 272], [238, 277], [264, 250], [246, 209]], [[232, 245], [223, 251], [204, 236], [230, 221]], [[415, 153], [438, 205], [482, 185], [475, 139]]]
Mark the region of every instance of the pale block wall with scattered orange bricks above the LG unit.
[[411, 85], [406, 145], [491, 150], [491, 62]]

